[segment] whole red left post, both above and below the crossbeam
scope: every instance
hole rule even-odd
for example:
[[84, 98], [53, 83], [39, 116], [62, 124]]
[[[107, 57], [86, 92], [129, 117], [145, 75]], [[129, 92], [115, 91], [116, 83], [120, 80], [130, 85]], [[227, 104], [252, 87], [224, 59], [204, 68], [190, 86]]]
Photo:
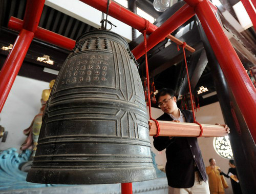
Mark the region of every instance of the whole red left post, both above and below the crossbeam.
[[16, 38], [0, 72], [0, 112], [33, 40], [44, 5], [45, 0], [27, 1], [23, 29]]

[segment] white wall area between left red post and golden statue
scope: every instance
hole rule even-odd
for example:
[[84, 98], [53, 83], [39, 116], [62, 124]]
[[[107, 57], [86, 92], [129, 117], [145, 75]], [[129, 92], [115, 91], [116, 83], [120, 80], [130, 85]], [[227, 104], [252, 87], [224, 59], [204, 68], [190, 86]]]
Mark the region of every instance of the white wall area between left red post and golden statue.
[[0, 125], [8, 131], [6, 142], [1, 142], [0, 150], [14, 147], [19, 150], [26, 140], [23, 130], [28, 128], [38, 114], [42, 90], [49, 89], [49, 83], [17, 76], [2, 112]]

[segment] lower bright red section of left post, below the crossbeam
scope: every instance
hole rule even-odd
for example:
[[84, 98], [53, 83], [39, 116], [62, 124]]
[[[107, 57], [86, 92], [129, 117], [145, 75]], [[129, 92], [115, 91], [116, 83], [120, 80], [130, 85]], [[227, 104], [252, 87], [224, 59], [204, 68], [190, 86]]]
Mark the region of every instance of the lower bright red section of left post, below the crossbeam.
[[11, 90], [16, 75], [22, 66], [25, 55], [29, 49], [34, 33], [25, 29], [20, 31], [13, 48], [0, 72], [0, 112], [3, 109], [7, 96]]

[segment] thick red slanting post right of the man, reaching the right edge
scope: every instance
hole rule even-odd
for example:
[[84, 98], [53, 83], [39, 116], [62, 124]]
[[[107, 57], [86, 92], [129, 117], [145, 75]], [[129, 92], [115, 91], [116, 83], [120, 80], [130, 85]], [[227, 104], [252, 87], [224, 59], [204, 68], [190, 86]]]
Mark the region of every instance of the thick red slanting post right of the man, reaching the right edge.
[[[189, 0], [187, 1], [189, 2]], [[243, 114], [252, 138], [256, 142], [256, 89], [236, 51], [234, 51], [222, 30], [214, 12], [210, 9], [208, 1], [198, 2], [195, 5], [195, 11]]]

